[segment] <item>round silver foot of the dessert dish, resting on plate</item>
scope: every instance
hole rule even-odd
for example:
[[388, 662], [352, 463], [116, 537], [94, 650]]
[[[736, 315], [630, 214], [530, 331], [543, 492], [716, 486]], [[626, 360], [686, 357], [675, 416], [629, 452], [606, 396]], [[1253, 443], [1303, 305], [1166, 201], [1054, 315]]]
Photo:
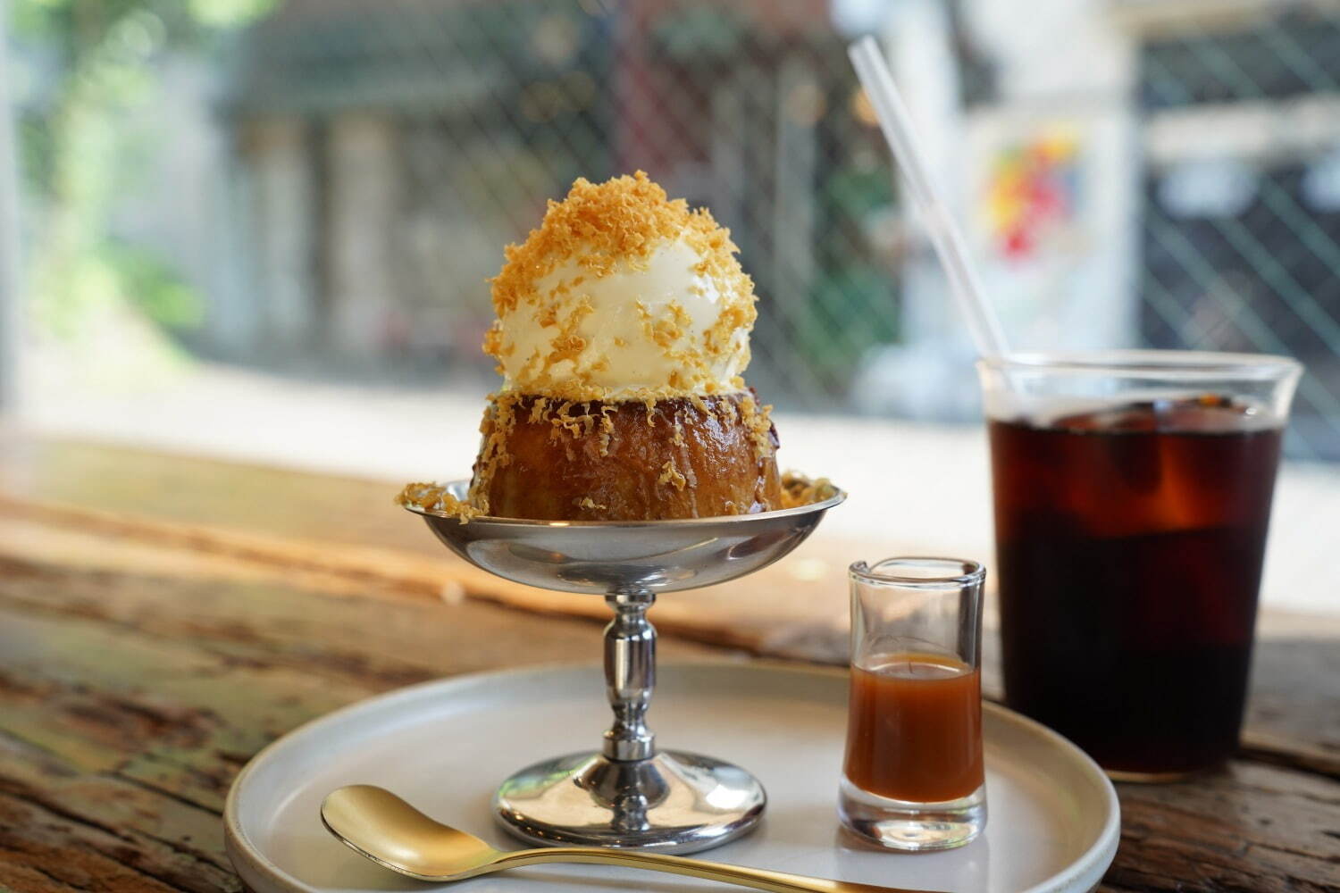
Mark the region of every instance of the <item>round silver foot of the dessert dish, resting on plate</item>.
[[541, 846], [694, 853], [749, 831], [766, 803], [753, 775], [710, 756], [665, 751], [619, 762], [571, 754], [503, 783], [494, 817]]

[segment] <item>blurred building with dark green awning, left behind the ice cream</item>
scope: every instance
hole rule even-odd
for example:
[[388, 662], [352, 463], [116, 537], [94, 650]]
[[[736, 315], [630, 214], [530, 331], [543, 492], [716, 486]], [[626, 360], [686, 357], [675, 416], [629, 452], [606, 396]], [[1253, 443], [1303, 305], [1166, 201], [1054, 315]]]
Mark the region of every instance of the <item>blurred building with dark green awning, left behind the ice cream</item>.
[[217, 349], [481, 364], [501, 246], [607, 166], [604, 31], [462, 0], [291, 0], [248, 29], [224, 110], [253, 288], [218, 296]]

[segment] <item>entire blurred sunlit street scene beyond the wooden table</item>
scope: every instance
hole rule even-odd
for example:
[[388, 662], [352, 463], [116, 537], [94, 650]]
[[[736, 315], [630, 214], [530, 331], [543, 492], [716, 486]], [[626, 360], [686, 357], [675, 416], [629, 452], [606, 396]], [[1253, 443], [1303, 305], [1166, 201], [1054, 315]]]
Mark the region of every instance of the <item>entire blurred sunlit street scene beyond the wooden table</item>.
[[[927, 546], [985, 544], [972, 345], [844, 51], [875, 33], [1013, 345], [1306, 364], [1269, 573], [1302, 598], [1329, 566], [1336, 4], [0, 8], [0, 384], [23, 427], [465, 473], [497, 384], [480, 340], [503, 246], [575, 177], [641, 167], [741, 248], [761, 296], [749, 378], [787, 463], [843, 462], [911, 503]], [[887, 499], [840, 523], [898, 525]]]

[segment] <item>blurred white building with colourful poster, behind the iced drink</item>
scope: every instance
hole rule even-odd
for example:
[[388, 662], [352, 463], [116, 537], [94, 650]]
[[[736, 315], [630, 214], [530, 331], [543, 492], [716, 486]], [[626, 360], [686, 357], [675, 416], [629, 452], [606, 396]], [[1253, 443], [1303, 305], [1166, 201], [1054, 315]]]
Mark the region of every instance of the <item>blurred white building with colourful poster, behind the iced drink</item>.
[[[1012, 345], [1296, 356], [1309, 375], [1290, 450], [1340, 458], [1340, 12], [1049, 0], [1020, 16], [973, 0], [962, 31], [988, 76], [955, 107], [945, 83], [965, 54], [947, 8], [898, 4], [886, 44]], [[904, 340], [860, 392], [963, 418], [970, 345], [917, 245]]]

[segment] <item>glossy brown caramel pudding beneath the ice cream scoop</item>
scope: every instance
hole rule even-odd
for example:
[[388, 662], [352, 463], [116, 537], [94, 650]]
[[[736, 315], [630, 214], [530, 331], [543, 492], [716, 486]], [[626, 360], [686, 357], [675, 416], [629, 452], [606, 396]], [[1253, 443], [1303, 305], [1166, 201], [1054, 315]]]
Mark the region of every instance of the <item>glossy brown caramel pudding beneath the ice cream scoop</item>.
[[658, 521], [783, 506], [777, 432], [752, 391], [489, 404], [470, 502], [536, 521]]

